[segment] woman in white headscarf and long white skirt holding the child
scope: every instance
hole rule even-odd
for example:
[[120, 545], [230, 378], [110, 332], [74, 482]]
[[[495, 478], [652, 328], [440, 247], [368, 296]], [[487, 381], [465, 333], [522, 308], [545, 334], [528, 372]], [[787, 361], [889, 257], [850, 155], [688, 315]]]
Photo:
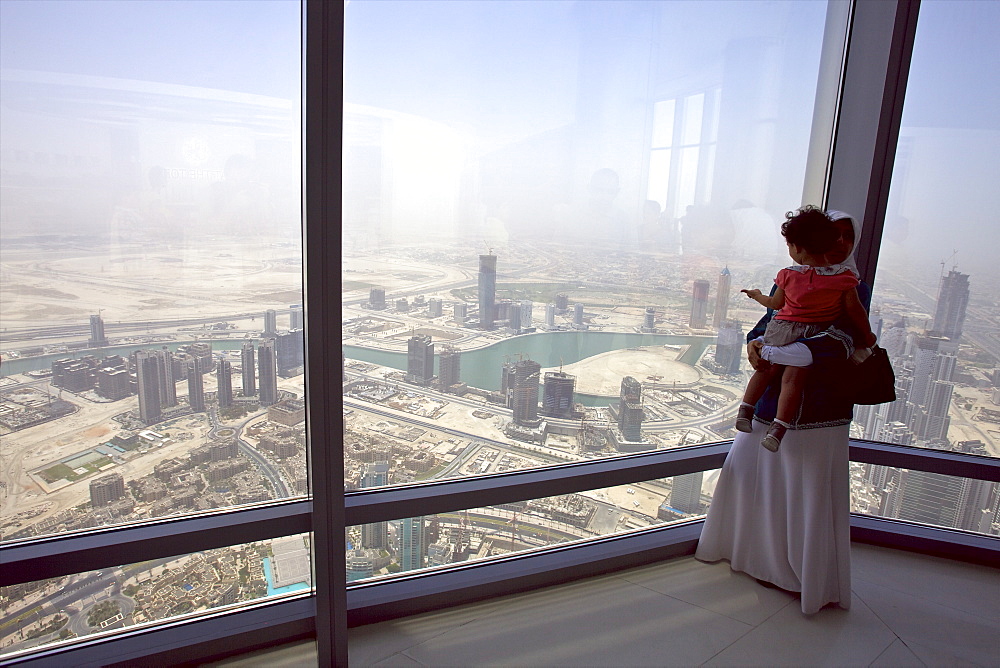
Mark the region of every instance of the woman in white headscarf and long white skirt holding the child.
[[[846, 214], [828, 212], [839, 236], [831, 261], [854, 267], [851, 254], [859, 237]], [[858, 285], [862, 303], [870, 299]], [[748, 335], [754, 368], [767, 365], [756, 341], [771, 314]], [[753, 432], [737, 433], [719, 475], [696, 557], [728, 559], [734, 570], [801, 593], [802, 612], [828, 603], [851, 603], [850, 480], [848, 429], [852, 404], [837, 379], [853, 353], [850, 325], [838, 320], [814, 337], [778, 348], [782, 355], [814, 363], [806, 378], [802, 407], [775, 457], [758, 447], [777, 411], [780, 382], [772, 382], [757, 402]], [[787, 364], [786, 357], [771, 360]]]

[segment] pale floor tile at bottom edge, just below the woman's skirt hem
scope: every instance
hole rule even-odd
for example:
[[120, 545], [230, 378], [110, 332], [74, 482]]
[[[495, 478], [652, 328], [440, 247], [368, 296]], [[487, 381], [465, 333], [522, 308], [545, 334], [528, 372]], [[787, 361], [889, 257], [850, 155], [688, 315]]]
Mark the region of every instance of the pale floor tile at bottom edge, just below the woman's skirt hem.
[[895, 640], [857, 597], [850, 610], [824, 608], [808, 616], [789, 604], [706, 665], [867, 666]]

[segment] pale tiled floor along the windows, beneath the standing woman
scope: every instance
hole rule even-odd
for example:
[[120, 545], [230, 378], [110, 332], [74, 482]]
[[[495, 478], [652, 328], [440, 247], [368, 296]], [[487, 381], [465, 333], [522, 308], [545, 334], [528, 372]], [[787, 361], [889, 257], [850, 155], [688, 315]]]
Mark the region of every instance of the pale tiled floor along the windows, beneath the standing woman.
[[[1000, 570], [853, 546], [850, 610], [676, 559], [350, 630], [352, 666], [997, 666]], [[226, 666], [313, 666], [314, 643]]]

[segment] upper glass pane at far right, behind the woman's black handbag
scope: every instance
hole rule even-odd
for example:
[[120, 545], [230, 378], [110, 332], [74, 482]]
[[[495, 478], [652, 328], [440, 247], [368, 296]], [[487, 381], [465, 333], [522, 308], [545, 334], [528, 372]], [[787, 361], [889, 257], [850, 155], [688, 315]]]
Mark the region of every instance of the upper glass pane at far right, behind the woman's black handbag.
[[861, 407], [865, 438], [1000, 455], [1000, 5], [920, 5], [873, 320], [897, 399]]

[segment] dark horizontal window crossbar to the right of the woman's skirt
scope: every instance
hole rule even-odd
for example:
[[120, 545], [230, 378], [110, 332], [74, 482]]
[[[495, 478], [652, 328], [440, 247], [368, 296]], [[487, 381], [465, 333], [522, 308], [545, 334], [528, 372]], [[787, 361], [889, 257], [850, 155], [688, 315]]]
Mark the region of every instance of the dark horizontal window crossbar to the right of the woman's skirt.
[[852, 439], [851, 461], [1000, 482], [1000, 459], [963, 452]]

